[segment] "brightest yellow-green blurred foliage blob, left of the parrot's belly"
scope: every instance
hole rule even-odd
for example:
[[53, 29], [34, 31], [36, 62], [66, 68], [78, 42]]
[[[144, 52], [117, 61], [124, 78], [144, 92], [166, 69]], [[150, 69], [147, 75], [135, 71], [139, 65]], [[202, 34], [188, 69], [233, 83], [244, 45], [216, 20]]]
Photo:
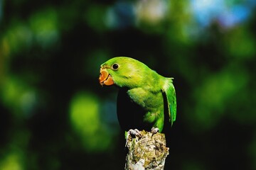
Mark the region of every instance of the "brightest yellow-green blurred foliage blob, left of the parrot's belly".
[[[114, 147], [113, 136], [100, 120], [100, 102], [92, 94], [78, 92], [70, 103], [70, 120], [82, 137], [87, 152], [102, 152]], [[100, 135], [97, 135], [100, 134]]]

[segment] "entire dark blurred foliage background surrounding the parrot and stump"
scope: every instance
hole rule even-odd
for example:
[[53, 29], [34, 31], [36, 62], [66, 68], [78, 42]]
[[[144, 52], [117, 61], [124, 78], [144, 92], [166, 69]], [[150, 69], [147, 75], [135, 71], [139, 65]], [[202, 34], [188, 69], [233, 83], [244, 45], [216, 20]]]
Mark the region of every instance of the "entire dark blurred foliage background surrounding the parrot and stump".
[[123, 169], [100, 64], [174, 77], [166, 169], [256, 169], [252, 0], [0, 0], [0, 169]]

